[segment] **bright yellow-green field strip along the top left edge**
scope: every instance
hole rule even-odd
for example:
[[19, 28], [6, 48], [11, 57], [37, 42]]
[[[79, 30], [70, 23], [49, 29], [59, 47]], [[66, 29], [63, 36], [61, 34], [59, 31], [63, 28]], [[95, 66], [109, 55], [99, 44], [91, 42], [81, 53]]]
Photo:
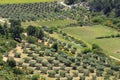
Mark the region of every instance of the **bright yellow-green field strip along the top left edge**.
[[0, 4], [51, 2], [55, 0], [0, 0]]

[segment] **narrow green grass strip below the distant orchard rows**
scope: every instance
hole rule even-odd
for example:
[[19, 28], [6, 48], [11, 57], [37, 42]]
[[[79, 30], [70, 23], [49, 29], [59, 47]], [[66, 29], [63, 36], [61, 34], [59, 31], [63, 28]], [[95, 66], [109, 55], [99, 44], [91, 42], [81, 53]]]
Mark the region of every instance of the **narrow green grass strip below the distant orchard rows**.
[[38, 20], [38, 21], [30, 21], [30, 22], [22, 22], [23, 27], [27, 27], [29, 25], [33, 26], [47, 26], [47, 27], [64, 27], [66, 25], [69, 25], [71, 23], [75, 23], [75, 21], [70, 20], [70, 19], [58, 19], [58, 20], [52, 20], [52, 21], [43, 21], [43, 20]]

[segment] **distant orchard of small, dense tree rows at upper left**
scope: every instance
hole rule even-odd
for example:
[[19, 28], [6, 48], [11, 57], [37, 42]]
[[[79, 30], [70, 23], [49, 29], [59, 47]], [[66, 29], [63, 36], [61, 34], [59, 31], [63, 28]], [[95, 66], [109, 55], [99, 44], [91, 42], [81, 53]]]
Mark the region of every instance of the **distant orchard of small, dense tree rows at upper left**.
[[0, 17], [19, 19], [20, 21], [35, 21], [38, 19], [54, 19], [54, 15], [62, 6], [56, 1], [23, 4], [0, 4]]

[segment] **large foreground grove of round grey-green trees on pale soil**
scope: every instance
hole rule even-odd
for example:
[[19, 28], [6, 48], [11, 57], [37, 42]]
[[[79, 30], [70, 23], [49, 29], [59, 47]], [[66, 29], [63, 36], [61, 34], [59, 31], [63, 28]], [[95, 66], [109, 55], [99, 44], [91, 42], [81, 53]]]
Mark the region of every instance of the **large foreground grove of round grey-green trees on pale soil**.
[[[18, 67], [28, 70], [30, 74], [40, 74], [45, 80], [105, 80], [108, 79], [106, 75], [110, 75], [110, 80], [119, 79], [119, 67], [109, 65], [110, 58], [92, 52], [80, 52], [74, 45], [47, 35], [46, 29], [43, 29], [46, 34], [44, 42], [32, 44], [23, 41], [3, 60], [12, 57]], [[52, 47], [56, 42], [58, 50]]]

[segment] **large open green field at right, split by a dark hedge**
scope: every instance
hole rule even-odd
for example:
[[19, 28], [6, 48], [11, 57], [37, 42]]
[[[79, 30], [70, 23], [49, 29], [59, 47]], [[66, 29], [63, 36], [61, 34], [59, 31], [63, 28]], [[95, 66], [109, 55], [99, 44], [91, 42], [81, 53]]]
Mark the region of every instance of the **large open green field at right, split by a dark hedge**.
[[89, 44], [98, 44], [104, 49], [105, 53], [120, 59], [120, 38], [96, 39], [96, 37], [120, 34], [116, 30], [97, 25], [92, 27], [68, 27], [63, 29], [63, 31]]

